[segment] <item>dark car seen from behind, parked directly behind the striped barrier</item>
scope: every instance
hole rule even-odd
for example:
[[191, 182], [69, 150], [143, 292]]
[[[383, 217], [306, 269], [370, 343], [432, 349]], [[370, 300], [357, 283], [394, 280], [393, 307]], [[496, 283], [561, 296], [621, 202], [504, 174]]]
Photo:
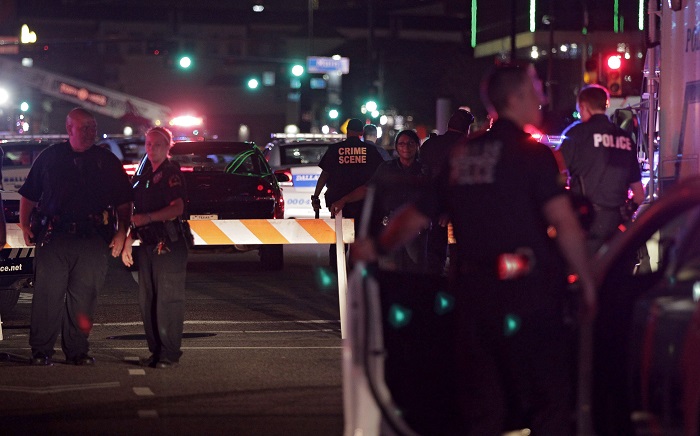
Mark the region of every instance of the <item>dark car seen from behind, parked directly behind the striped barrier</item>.
[[[262, 151], [252, 142], [177, 142], [171, 160], [180, 164], [187, 186], [188, 220], [276, 219], [284, 217], [284, 199], [279, 182]], [[137, 174], [143, 171], [141, 159]], [[227, 246], [236, 251], [258, 250], [263, 266], [270, 270], [284, 265], [283, 246]], [[195, 249], [217, 248], [212, 246]], [[218, 247], [221, 248], [221, 247]]]

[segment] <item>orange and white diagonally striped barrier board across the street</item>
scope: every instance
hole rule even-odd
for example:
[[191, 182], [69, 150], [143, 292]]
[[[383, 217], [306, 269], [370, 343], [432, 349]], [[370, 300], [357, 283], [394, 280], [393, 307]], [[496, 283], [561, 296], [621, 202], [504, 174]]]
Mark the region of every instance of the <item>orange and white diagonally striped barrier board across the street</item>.
[[[335, 244], [335, 220], [328, 219], [246, 219], [189, 221], [194, 243], [204, 245], [261, 244]], [[343, 242], [355, 240], [352, 219], [342, 220]], [[5, 249], [12, 249], [10, 258], [23, 254], [16, 249], [28, 248], [19, 224], [7, 224]]]

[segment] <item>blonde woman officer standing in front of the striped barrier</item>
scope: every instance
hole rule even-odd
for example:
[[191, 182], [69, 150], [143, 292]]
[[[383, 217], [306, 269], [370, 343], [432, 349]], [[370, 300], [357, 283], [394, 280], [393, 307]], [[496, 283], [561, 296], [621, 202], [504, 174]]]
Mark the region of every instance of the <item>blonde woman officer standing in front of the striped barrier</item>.
[[185, 272], [188, 227], [182, 221], [187, 202], [180, 166], [168, 159], [172, 134], [163, 127], [146, 133], [148, 160], [134, 176], [132, 231], [122, 262], [134, 264], [132, 243], [141, 240], [138, 256], [139, 306], [151, 355], [141, 363], [153, 368], [177, 366], [185, 321]]

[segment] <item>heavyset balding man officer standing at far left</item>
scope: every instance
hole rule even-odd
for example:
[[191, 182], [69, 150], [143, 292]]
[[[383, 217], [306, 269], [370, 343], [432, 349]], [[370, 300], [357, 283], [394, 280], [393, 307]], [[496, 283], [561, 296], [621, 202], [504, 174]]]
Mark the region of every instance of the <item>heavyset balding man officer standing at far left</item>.
[[[59, 331], [67, 362], [95, 362], [88, 354], [88, 336], [107, 275], [107, 245], [117, 257], [131, 211], [121, 162], [93, 146], [97, 123], [92, 114], [73, 109], [66, 130], [68, 141], [45, 149], [19, 190], [24, 241], [36, 243], [29, 333], [35, 365], [52, 364]], [[116, 233], [110, 209], [116, 209]]]

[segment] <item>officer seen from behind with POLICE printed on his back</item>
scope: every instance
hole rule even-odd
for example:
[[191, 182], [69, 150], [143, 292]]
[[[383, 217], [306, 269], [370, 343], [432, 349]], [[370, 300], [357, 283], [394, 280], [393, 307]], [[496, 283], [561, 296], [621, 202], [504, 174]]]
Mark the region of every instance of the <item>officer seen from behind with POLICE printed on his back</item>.
[[571, 191], [587, 197], [594, 208], [588, 251], [595, 253], [623, 220], [621, 208], [632, 191], [632, 208], [644, 201], [637, 146], [629, 134], [605, 115], [610, 95], [600, 85], [578, 95], [581, 121], [564, 130], [559, 146], [569, 172]]

